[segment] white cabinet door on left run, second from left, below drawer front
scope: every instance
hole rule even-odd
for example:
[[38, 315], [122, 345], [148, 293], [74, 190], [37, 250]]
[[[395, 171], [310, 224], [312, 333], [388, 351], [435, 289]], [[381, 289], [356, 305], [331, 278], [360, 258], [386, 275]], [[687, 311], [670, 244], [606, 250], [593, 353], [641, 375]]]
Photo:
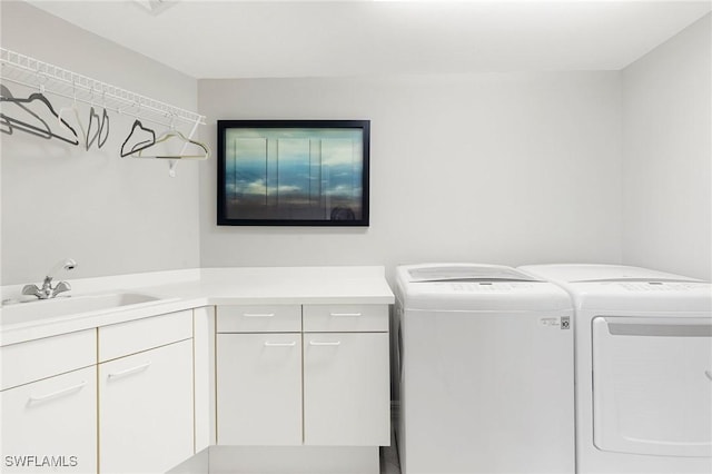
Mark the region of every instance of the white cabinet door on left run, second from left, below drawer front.
[[192, 340], [99, 365], [99, 464], [164, 473], [194, 454]]

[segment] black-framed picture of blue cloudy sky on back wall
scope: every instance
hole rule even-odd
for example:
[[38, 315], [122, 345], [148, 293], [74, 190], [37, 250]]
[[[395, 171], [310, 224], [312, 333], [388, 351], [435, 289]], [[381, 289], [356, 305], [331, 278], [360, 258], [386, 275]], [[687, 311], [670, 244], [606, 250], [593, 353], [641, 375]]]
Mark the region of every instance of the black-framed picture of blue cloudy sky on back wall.
[[368, 226], [369, 120], [218, 120], [218, 226]]

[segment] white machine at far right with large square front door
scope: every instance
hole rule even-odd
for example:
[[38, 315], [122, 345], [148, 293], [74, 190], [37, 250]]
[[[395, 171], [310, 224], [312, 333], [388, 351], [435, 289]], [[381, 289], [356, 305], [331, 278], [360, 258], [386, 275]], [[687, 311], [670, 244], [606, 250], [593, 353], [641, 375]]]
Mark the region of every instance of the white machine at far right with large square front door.
[[611, 265], [520, 269], [575, 306], [576, 472], [712, 473], [712, 288]]

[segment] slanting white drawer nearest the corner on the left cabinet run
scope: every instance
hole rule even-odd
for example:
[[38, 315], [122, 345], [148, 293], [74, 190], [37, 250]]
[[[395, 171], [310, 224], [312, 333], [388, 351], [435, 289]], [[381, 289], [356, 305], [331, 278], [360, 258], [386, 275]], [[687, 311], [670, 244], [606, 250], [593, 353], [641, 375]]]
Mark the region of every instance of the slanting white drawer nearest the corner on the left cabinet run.
[[99, 328], [99, 362], [192, 337], [192, 310], [112, 324]]

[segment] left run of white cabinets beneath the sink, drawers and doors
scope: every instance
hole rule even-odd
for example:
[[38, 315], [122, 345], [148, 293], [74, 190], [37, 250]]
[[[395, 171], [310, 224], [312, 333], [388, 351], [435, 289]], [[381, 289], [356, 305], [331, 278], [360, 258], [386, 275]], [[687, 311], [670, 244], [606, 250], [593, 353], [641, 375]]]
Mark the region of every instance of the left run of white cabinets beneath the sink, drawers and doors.
[[194, 454], [192, 355], [192, 310], [0, 347], [0, 471], [181, 463]]

